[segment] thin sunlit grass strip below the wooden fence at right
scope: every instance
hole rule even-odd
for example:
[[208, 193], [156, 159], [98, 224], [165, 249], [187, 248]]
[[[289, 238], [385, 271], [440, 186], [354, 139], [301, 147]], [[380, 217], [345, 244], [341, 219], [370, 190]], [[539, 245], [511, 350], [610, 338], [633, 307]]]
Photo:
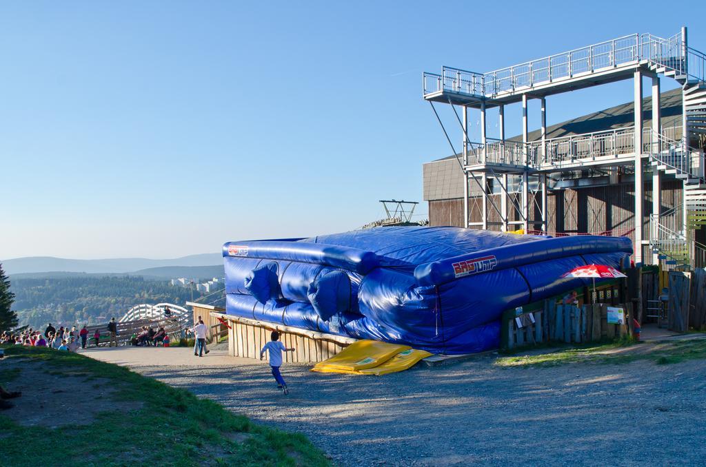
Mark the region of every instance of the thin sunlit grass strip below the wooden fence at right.
[[706, 359], [706, 339], [664, 341], [657, 344], [645, 344], [652, 346], [652, 348], [645, 348], [644, 352], [609, 353], [615, 348], [632, 346], [633, 344], [635, 341], [631, 339], [621, 339], [608, 344], [587, 344], [538, 355], [501, 357], [496, 360], [495, 365], [516, 367], [554, 366], [568, 363], [622, 364], [636, 360], [652, 360], [658, 365], [667, 365], [686, 360]]

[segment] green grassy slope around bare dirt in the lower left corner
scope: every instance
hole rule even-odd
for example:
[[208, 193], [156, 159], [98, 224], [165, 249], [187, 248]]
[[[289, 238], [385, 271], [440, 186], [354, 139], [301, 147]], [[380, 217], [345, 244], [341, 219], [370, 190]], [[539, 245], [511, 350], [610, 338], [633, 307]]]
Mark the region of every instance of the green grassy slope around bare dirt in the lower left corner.
[[[51, 366], [52, 374], [85, 375], [87, 385], [92, 379], [107, 378], [119, 388], [114, 399], [140, 401], [143, 405], [139, 410], [121, 413], [109, 411], [107, 401], [106, 411], [95, 423], [56, 429], [23, 427], [0, 412], [2, 465], [37, 465], [36, 455], [42, 452], [52, 453], [52, 459], [61, 459], [61, 463], [81, 465], [329, 464], [304, 435], [255, 425], [213, 401], [197, 399], [184, 389], [127, 368], [44, 348], [9, 347], [6, 356], [44, 361]], [[2, 370], [0, 362], [0, 383], [17, 377], [17, 370]], [[16, 403], [21, 404], [22, 399]]]

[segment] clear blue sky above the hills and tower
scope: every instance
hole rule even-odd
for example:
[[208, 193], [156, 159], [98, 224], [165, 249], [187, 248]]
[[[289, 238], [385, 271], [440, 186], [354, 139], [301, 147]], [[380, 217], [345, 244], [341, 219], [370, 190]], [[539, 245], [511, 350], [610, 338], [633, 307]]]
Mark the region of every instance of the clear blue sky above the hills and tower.
[[[356, 228], [379, 199], [421, 201], [421, 164], [450, 154], [422, 71], [681, 25], [706, 49], [702, 2], [627, 3], [4, 1], [0, 258], [177, 257]], [[549, 123], [630, 86], [550, 98]], [[506, 112], [514, 135], [520, 110]]]

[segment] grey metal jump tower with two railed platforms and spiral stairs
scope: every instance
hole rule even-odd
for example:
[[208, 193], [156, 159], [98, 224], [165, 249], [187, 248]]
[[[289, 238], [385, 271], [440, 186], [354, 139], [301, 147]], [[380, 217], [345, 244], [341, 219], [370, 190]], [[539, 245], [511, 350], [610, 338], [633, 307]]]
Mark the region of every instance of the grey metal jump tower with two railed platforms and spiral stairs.
[[[651, 128], [645, 128], [642, 121], [643, 77], [652, 78]], [[678, 132], [661, 127], [663, 77], [676, 80], [682, 87]], [[634, 83], [632, 127], [546, 138], [547, 96], [619, 80]], [[494, 225], [508, 231], [511, 226], [521, 226], [525, 231], [546, 231], [548, 178], [575, 178], [577, 171], [587, 169], [634, 173], [634, 214], [635, 219], [643, 219], [643, 173], [652, 166], [652, 193], [660, 193], [663, 178], [676, 178], [683, 183], [683, 202], [662, 212], [660, 196], [652, 196], [649, 227], [645, 229], [642, 222], [635, 221], [635, 263], [666, 260], [690, 267], [706, 265], [706, 250], [695, 243], [693, 236], [706, 224], [702, 149], [706, 136], [706, 55], [688, 46], [686, 28], [668, 39], [628, 35], [489, 73], [443, 67], [441, 74], [424, 73], [423, 87], [424, 99], [431, 104], [465, 176], [463, 214], [467, 227], [489, 229]], [[541, 137], [534, 141], [528, 139], [530, 99], [541, 101]], [[504, 106], [515, 102], [522, 102], [522, 141], [505, 140]], [[452, 107], [462, 128], [462, 150], [455, 150], [434, 103]], [[493, 107], [498, 107], [498, 139], [489, 138], [486, 131], [486, 111]], [[471, 109], [480, 111], [480, 141], [471, 141], [468, 135]], [[500, 188], [496, 190], [499, 203], [489, 196], [489, 183]], [[508, 183], [519, 184], [519, 196], [510, 196]], [[473, 185], [482, 193], [480, 222], [471, 222], [469, 213], [469, 187]], [[530, 219], [530, 207], [534, 209], [535, 205], [541, 216]], [[491, 222], [489, 209], [500, 222]], [[515, 220], [510, 220], [510, 210], [517, 212]], [[652, 258], [643, 257], [642, 245], [649, 245]]]

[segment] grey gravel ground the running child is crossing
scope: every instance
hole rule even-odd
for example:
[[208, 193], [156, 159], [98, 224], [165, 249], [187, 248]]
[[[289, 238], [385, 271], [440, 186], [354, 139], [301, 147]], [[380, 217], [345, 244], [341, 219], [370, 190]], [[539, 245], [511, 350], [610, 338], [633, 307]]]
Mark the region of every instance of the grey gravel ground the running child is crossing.
[[342, 466], [702, 465], [706, 459], [703, 360], [497, 368], [492, 356], [479, 356], [383, 377], [285, 365], [290, 394], [284, 396], [267, 365], [234, 358], [223, 365], [229, 357], [217, 358], [208, 366], [205, 358], [197, 360], [202, 366], [184, 365], [191, 360], [183, 358], [122, 363], [258, 422], [304, 432]]

